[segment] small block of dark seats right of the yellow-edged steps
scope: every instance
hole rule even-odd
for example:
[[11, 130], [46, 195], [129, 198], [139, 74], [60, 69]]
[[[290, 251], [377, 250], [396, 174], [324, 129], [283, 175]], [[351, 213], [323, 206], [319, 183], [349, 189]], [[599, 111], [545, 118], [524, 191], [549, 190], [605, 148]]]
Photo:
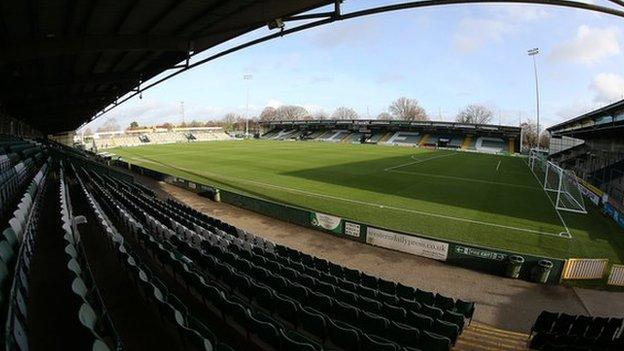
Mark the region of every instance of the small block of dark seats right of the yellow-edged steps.
[[623, 350], [622, 318], [542, 311], [531, 328], [534, 350]]

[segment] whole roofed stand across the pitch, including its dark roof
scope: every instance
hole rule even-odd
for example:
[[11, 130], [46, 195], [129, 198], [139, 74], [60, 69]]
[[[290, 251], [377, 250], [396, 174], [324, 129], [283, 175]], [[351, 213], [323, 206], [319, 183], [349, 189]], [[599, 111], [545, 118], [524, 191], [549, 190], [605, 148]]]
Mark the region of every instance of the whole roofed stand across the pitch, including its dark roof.
[[261, 139], [297, 139], [396, 146], [448, 148], [483, 153], [520, 150], [520, 128], [449, 122], [269, 121]]

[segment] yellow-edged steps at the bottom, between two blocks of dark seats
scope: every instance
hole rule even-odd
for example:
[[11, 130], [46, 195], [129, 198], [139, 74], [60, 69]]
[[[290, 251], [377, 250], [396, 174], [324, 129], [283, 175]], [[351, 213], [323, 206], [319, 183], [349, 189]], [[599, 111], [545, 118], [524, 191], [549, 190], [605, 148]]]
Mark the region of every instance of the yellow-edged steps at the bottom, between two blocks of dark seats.
[[526, 351], [528, 334], [472, 322], [457, 340], [453, 351]]

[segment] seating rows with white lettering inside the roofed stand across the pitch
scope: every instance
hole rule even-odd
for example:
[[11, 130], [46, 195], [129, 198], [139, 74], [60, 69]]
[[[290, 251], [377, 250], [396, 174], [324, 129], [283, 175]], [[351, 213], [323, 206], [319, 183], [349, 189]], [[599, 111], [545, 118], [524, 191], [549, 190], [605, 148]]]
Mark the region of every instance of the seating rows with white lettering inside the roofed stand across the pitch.
[[271, 130], [261, 136], [262, 139], [273, 140], [318, 140], [327, 142], [369, 144], [403, 145], [403, 146], [423, 146], [423, 147], [443, 147], [451, 149], [464, 149], [479, 152], [496, 153], [513, 150], [509, 149], [507, 141], [500, 137], [473, 137], [452, 134], [432, 134], [408, 131], [397, 131], [393, 133], [371, 133], [351, 132], [348, 130], [317, 130], [298, 131], [293, 130]]

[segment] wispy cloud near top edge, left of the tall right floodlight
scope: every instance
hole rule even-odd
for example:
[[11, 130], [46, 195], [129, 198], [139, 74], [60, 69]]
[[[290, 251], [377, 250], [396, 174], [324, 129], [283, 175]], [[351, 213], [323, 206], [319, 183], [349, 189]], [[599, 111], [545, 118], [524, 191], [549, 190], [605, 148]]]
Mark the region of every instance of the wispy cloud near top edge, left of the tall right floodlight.
[[454, 36], [455, 48], [469, 53], [490, 43], [500, 43], [522, 25], [549, 17], [543, 8], [528, 5], [493, 6], [487, 17], [465, 17]]

